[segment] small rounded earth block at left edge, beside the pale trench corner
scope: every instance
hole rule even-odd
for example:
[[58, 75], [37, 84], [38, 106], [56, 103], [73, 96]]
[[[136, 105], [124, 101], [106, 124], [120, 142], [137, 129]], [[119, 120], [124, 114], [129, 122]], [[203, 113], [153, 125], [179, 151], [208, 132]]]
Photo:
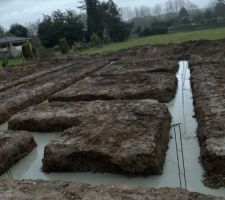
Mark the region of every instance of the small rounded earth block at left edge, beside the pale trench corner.
[[28, 155], [36, 143], [29, 132], [0, 132], [0, 174]]

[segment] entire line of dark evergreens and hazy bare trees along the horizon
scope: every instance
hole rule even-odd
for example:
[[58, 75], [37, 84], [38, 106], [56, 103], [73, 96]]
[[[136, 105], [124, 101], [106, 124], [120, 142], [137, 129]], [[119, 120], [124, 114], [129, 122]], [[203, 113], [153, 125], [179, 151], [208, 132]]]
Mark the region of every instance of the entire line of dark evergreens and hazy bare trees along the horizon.
[[171, 27], [225, 23], [225, 0], [213, 0], [207, 9], [202, 10], [190, 0], [167, 0], [164, 5], [134, 9], [118, 8], [112, 0], [81, 0], [79, 9], [80, 13], [56, 10], [27, 27], [13, 24], [5, 31], [0, 26], [0, 36], [38, 35], [44, 47], [59, 44], [71, 47], [80, 42], [98, 44], [123, 41], [131, 33], [147, 36], [167, 33]]

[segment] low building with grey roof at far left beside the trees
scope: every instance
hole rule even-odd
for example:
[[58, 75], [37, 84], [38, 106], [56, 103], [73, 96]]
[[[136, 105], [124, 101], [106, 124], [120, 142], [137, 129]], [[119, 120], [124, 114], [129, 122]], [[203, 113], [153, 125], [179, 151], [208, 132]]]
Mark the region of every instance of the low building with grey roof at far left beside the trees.
[[30, 38], [15, 36], [0, 37], [0, 58], [21, 56], [22, 44], [30, 40]]

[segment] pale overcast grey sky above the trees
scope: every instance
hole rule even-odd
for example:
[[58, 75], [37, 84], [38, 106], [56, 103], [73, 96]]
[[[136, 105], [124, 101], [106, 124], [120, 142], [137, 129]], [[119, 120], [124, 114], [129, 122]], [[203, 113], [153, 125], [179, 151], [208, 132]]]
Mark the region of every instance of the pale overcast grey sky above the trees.
[[[141, 5], [154, 6], [166, 0], [114, 0], [119, 7], [135, 7]], [[192, 1], [200, 7], [206, 7], [210, 0]], [[79, 0], [0, 0], [0, 25], [9, 28], [12, 23], [26, 25], [51, 14], [56, 9], [76, 9]]]

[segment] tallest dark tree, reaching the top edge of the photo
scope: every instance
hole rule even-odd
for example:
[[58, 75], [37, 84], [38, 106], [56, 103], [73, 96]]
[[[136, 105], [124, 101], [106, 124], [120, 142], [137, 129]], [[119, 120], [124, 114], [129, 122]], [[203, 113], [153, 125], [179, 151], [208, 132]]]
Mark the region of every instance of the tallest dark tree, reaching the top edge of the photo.
[[82, 1], [80, 7], [87, 14], [87, 40], [95, 33], [101, 39], [109, 36], [112, 41], [121, 41], [129, 37], [132, 24], [123, 22], [117, 5], [112, 1]]

